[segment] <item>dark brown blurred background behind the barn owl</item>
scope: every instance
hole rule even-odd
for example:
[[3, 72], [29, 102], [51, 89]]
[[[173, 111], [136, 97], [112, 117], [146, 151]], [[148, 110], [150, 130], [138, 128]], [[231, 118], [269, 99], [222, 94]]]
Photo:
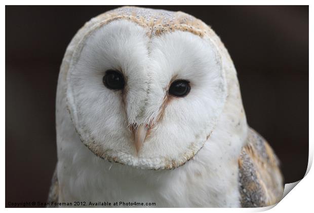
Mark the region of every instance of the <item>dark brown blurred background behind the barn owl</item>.
[[[238, 71], [248, 123], [281, 160], [285, 183], [308, 161], [308, 7], [149, 6], [212, 26]], [[45, 202], [57, 162], [59, 67], [75, 32], [114, 6], [6, 6], [6, 205]]]

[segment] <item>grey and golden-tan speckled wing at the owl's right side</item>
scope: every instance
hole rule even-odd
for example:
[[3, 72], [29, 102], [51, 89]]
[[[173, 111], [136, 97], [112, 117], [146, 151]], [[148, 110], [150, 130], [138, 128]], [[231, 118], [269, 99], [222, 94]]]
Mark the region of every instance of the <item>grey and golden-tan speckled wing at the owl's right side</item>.
[[238, 161], [241, 206], [276, 204], [284, 191], [279, 160], [267, 141], [251, 128], [247, 140]]

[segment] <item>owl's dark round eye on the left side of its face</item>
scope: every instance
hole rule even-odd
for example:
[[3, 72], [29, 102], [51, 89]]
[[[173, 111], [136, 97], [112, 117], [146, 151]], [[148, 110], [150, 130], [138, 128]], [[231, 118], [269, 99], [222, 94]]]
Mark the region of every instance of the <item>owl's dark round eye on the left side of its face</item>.
[[102, 82], [108, 89], [123, 89], [125, 85], [123, 75], [112, 69], [106, 71]]

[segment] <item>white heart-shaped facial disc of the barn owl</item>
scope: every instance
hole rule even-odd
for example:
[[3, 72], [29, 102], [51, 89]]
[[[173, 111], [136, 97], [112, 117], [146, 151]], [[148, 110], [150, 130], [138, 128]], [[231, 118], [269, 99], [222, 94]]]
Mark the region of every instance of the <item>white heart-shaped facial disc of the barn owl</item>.
[[209, 140], [226, 85], [209, 38], [150, 31], [120, 19], [86, 33], [66, 77], [67, 107], [95, 155], [142, 169], [171, 169]]

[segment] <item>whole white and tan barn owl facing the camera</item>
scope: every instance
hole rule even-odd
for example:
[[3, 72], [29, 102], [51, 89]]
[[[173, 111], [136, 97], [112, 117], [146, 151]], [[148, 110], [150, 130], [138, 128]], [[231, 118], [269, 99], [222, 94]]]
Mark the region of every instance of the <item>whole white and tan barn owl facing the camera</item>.
[[56, 131], [51, 205], [261, 207], [283, 193], [226, 48], [183, 12], [122, 7], [87, 22], [61, 64]]

